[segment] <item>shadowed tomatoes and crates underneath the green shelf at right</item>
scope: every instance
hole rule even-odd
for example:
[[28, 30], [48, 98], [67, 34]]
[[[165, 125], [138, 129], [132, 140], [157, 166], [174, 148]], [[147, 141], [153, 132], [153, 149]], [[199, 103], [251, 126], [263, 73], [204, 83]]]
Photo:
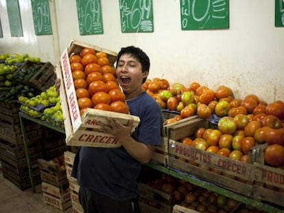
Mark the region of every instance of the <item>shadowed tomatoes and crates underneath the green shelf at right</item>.
[[[153, 192], [149, 192], [149, 189], [140, 189], [140, 201], [165, 212], [167, 212], [168, 205], [175, 204], [198, 212], [263, 212], [250, 205], [239, 203], [235, 199], [200, 188], [199, 186], [164, 173], [161, 174], [161, 177], [147, 181], [146, 184], [154, 188], [154, 190]], [[163, 193], [169, 195], [169, 199], [166, 200], [165, 197], [167, 196], [163, 195]], [[154, 199], [147, 199], [147, 195], [152, 195]], [[164, 199], [159, 199], [160, 197]]]

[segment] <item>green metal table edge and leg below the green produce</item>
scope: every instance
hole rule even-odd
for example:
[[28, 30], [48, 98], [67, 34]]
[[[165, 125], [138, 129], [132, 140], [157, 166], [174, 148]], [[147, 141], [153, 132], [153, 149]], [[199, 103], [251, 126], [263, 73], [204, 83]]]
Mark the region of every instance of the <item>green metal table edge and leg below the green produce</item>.
[[29, 148], [28, 148], [28, 145], [27, 145], [25, 120], [29, 120], [29, 121], [32, 121], [34, 123], [38, 123], [39, 125], [43, 125], [45, 127], [48, 127], [49, 129], [53, 129], [53, 130], [58, 131], [62, 134], [65, 134], [65, 131], [61, 127], [56, 127], [55, 125], [52, 125], [50, 123], [40, 121], [38, 118], [33, 118], [32, 116], [29, 116], [27, 114], [23, 114], [22, 112], [19, 112], [19, 118], [20, 118], [20, 123], [21, 123], [21, 131], [22, 131], [22, 134], [23, 134], [23, 144], [24, 144], [24, 147], [25, 147], [25, 155], [26, 155], [26, 158], [27, 158], [27, 168], [28, 168], [28, 171], [29, 171], [29, 180], [31, 181], [32, 190], [34, 192], [36, 192], [36, 188], [34, 186], [34, 175], [32, 173], [32, 168], [31, 168], [31, 164], [30, 164]]

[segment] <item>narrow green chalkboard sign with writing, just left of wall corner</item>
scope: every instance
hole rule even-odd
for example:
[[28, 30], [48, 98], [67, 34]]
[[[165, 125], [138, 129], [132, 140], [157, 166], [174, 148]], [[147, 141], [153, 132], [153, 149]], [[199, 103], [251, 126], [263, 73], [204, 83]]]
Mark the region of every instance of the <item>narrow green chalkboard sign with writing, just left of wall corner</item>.
[[51, 19], [49, 0], [31, 0], [32, 16], [34, 18], [34, 32], [37, 36], [51, 35]]

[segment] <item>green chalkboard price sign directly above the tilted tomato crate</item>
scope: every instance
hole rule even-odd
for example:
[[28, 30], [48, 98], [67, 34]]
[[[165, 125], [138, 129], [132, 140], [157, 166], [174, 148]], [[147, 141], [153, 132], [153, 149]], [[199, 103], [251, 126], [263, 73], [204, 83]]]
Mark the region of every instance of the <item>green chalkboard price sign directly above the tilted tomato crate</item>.
[[104, 34], [101, 2], [76, 0], [80, 35]]

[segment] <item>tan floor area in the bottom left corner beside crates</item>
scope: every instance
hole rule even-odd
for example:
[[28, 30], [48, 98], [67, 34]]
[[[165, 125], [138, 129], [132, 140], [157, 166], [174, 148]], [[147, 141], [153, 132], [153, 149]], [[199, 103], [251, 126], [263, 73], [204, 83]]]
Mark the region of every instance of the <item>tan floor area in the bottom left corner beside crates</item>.
[[[3, 177], [0, 165], [0, 213], [59, 213], [62, 211], [43, 201], [41, 186], [36, 186], [36, 193], [32, 188], [21, 190]], [[72, 208], [64, 211], [71, 213]]]

